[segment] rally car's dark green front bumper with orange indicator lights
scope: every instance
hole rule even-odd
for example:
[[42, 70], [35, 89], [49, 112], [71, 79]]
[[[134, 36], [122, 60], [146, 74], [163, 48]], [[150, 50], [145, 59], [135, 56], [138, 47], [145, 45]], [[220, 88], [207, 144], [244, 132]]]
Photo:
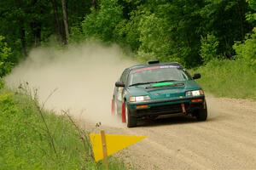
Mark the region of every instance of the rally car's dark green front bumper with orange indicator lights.
[[151, 100], [140, 103], [129, 103], [131, 116], [147, 117], [183, 113], [188, 115], [193, 111], [206, 108], [205, 96], [183, 99]]

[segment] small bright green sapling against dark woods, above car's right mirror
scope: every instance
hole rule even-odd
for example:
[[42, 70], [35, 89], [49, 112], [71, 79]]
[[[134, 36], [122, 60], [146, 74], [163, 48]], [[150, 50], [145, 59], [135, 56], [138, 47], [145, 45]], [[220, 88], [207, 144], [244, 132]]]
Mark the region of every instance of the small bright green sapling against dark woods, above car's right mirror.
[[201, 58], [204, 62], [218, 58], [218, 39], [214, 35], [207, 34], [207, 37], [201, 37]]

